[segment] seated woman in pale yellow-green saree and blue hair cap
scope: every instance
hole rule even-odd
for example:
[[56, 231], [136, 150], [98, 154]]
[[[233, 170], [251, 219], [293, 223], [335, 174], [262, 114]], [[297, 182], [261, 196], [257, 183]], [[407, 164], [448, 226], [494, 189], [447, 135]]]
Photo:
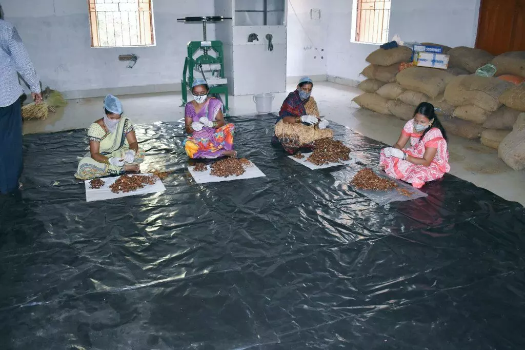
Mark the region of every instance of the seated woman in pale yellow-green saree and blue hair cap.
[[88, 129], [90, 152], [80, 160], [75, 177], [90, 180], [127, 171], [139, 171], [144, 151], [139, 149], [131, 120], [122, 114], [117, 97], [104, 98], [105, 115]]

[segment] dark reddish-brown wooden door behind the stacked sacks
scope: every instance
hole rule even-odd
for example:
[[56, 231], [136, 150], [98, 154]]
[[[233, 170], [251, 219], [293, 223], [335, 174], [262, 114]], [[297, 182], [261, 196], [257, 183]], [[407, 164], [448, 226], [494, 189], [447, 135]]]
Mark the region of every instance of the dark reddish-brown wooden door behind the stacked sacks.
[[481, 0], [476, 47], [492, 55], [525, 50], [525, 0]]

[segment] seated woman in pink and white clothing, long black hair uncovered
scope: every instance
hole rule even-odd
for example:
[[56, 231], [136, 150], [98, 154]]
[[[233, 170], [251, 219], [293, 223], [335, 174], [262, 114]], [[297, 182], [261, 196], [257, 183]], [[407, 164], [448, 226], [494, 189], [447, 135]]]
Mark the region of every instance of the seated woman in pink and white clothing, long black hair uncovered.
[[[403, 149], [408, 141], [411, 147]], [[416, 188], [450, 171], [447, 133], [433, 105], [423, 102], [417, 106], [414, 118], [407, 121], [394, 147], [381, 151], [379, 162], [388, 176]]]

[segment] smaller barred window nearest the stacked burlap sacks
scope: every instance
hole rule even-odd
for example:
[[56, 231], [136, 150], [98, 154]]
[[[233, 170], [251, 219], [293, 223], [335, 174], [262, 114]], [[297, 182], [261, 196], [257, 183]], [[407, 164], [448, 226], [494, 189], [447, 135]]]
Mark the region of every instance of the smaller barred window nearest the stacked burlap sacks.
[[[356, 2], [355, 42], [388, 42], [391, 0], [354, 0]], [[355, 8], [355, 7], [354, 7]]]

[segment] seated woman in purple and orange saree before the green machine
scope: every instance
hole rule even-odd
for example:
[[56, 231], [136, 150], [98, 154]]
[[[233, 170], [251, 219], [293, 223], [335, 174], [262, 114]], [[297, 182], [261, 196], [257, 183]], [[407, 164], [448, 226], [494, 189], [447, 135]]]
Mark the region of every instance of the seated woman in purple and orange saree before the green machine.
[[235, 126], [224, 121], [223, 104], [208, 97], [209, 87], [204, 79], [192, 84], [193, 101], [186, 104], [185, 127], [189, 136], [184, 149], [190, 158], [236, 157], [233, 149]]

